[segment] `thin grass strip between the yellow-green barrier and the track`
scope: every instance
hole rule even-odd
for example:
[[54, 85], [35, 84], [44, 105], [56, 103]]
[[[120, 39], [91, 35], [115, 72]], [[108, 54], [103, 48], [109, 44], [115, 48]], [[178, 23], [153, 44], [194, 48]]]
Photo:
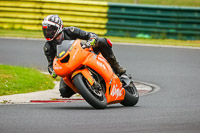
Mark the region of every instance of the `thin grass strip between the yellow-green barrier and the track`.
[[[0, 29], [0, 37], [43, 38], [43, 33], [42, 31]], [[142, 39], [142, 38], [113, 37], [113, 36], [104, 36], [104, 37], [110, 38], [112, 42], [200, 47], [200, 40], [184, 41], [184, 40], [172, 40], [172, 39]]]

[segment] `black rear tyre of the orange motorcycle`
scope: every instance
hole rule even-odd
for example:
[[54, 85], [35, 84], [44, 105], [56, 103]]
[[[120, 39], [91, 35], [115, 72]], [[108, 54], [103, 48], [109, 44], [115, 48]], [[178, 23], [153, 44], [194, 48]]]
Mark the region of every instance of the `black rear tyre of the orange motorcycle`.
[[125, 88], [125, 97], [124, 100], [121, 102], [124, 106], [134, 106], [138, 103], [139, 100], [139, 93], [133, 83], [131, 81], [130, 85]]

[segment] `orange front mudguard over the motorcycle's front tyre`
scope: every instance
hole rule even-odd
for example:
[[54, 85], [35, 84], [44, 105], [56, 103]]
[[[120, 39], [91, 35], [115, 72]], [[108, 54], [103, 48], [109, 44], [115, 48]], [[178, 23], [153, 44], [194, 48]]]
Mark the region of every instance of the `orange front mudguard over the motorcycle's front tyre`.
[[94, 78], [92, 77], [92, 74], [90, 73], [90, 71], [87, 68], [75, 71], [72, 74], [71, 79], [73, 79], [79, 73], [81, 73], [85, 77], [85, 79], [87, 79], [87, 81], [90, 83], [91, 86], [94, 84], [95, 80], [94, 80]]

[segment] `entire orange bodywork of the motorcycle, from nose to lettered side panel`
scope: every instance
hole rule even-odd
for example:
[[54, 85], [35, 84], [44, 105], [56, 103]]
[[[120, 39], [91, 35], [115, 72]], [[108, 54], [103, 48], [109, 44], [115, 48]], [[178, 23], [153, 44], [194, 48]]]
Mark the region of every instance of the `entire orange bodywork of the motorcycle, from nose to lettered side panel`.
[[93, 86], [95, 78], [91, 71], [98, 73], [105, 82], [105, 97], [107, 104], [120, 103], [124, 100], [125, 89], [118, 76], [113, 72], [107, 60], [101, 55], [96, 55], [92, 48], [83, 49], [81, 41], [63, 42], [58, 46], [58, 54], [54, 59], [53, 68], [58, 76], [75, 92], [79, 92], [73, 83], [73, 78], [81, 73], [89, 84]]

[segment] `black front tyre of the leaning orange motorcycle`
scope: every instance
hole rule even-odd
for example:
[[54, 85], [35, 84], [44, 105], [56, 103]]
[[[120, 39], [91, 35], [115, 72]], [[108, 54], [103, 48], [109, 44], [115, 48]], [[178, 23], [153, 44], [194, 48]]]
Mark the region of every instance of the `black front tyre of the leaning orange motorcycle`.
[[107, 106], [107, 100], [102, 90], [94, 89], [82, 74], [77, 74], [74, 78], [74, 85], [81, 96], [94, 108], [104, 109]]

